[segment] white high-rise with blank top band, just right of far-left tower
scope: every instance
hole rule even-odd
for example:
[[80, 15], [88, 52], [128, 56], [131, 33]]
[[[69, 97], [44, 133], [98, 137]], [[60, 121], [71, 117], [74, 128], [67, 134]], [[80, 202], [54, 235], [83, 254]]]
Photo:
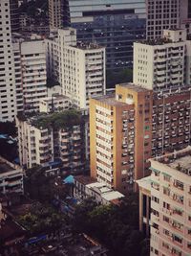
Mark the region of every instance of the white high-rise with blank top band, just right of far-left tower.
[[21, 43], [23, 100], [25, 111], [38, 111], [39, 101], [47, 97], [45, 43], [41, 40]]

